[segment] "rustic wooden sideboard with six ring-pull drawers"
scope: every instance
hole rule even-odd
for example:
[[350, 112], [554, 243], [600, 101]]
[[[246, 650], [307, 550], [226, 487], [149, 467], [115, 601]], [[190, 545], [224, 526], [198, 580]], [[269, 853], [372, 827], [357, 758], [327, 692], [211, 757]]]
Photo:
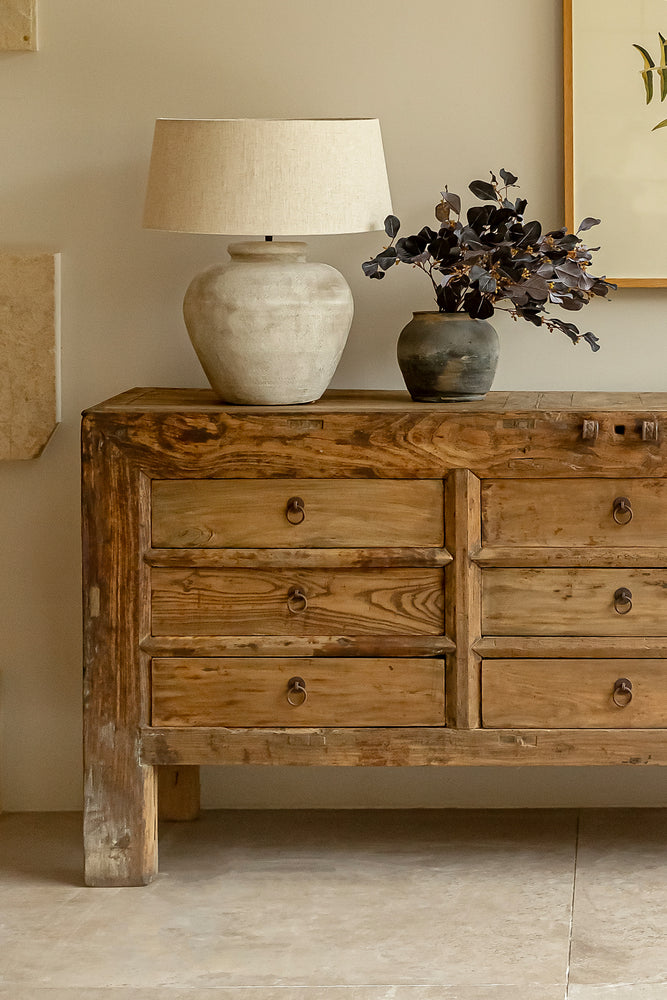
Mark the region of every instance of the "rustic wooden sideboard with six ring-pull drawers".
[[156, 874], [164, 765], [667, 764], [666, 431], [667, 393], [87, 410], [87, 883]]

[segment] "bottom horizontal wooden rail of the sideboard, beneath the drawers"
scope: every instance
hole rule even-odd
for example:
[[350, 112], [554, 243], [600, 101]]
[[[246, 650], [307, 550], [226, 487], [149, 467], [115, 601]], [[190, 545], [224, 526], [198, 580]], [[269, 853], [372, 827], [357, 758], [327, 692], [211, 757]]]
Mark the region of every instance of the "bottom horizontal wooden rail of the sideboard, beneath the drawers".
[[301, 767], [664, 767], [667, 730], [156, 728], [143, 731], [142, 759]]

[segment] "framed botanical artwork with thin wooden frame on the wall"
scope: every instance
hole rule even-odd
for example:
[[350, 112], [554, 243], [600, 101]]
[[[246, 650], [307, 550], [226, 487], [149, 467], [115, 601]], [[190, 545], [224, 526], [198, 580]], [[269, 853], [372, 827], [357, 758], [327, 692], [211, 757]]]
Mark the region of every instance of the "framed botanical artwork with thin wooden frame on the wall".
[[563, 0], [566, 222], [596, 273], [667, 287], [667, 0]]

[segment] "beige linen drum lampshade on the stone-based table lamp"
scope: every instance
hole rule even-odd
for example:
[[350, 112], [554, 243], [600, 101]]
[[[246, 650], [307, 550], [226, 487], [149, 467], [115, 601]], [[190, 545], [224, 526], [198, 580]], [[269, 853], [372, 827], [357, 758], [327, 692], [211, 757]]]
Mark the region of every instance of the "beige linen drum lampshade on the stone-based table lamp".
[[382, 229], [390, 211], [376, 118], [155, 123], [148, 229], [360, 233]]

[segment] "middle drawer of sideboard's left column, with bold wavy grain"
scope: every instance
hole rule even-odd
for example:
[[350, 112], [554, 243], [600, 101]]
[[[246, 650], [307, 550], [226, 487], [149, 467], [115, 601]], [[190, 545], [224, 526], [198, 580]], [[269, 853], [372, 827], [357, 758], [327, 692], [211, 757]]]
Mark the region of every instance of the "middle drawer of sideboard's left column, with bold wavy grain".
[[153, 635], [441, 635], [441, 569], [153, 569]]

